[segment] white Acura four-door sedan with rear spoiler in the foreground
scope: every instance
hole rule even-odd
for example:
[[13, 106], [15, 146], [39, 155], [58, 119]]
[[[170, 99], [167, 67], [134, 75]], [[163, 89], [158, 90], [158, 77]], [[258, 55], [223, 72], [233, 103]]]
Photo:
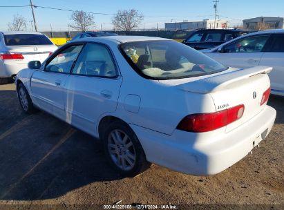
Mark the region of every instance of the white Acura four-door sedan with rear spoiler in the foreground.
[[23, 111], [44, 110], [102, 141], [110, 164], [133, 176], [153, 162], [220, 173], [271, 131], [272, 68], [227, 68], [156, 37], [70, 41], [15, 84]]

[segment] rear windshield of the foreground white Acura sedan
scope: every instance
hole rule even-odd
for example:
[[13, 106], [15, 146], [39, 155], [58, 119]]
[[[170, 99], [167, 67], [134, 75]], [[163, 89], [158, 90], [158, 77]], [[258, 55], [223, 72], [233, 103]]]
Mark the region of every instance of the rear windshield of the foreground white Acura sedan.
[[120, 45], [134, 70], [149, 79], [197, 77], [227, 67], [177, 41], [134, 41]]

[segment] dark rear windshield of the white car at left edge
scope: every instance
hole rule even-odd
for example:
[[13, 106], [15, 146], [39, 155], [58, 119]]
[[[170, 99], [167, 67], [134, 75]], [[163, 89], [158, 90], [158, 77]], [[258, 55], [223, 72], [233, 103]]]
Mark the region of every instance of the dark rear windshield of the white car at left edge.
[[4, 39], [6, 46], [53, 44], [48, 39], [48, 37], [44, 35], [28, 35], [28, 34], [4, 35]]

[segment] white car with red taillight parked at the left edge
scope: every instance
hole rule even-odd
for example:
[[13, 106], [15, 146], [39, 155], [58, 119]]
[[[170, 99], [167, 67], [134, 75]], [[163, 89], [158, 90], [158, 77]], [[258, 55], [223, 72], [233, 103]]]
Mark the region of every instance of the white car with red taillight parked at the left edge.
[[43, 62], [56, 49], [40, 32], [0, 32], [0, 84], [27, 68], [29, 61]]

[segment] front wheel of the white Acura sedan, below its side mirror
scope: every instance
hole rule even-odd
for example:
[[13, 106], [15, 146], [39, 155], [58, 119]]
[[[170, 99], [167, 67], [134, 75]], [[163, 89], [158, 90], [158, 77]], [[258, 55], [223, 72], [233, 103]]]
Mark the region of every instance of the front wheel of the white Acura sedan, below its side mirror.
[[26, 87], [20, 83], [17, 88], [18, 99], [23, 111], [27, 114], [32, 114], [35, 112], [35, 107], [32, 104], [32, 99], [30, 99], [30, 95], [28, 95], [28, 90]]

